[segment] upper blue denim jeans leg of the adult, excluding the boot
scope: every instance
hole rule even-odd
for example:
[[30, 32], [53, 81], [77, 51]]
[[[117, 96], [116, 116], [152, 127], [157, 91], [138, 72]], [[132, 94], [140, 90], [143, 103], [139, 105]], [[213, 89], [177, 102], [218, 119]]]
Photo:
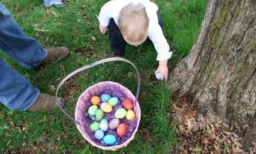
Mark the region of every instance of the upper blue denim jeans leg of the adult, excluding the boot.
[[47, 51], [20, 29], [19, 25], [0, 2], [0, 50], [25, 68], [34, 68], [46, 57]]

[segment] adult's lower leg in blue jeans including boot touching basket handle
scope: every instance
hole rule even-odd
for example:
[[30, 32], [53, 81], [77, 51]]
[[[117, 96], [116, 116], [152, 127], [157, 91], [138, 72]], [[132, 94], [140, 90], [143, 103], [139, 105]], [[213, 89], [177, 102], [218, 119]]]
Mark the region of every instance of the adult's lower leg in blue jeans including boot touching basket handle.
[[0, 57], [0, 102], [12, 110], [52, 111], [64, 105], [64, 99], [42, 94]]

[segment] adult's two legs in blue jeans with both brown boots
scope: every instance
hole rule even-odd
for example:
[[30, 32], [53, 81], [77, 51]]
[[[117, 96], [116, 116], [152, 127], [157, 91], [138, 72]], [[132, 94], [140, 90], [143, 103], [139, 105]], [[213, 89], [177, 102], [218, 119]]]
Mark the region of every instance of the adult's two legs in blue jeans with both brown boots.
[[[46, 51], [37, 41], [26, 36], [1, 2], [0, 23], [0, 50], [25, 68], [58, 61], [68, 54], [66, 47], [50, 48]], [[30, 111], [50, 111], [57, 107], [55, 96], [40, 94], [36, 87], [9, 67], [2, 58], [0, 59], [0, 102], [10, 109], [21, 111], [28, 108]], [[58, 102], [63, 105], [63, 98], [58, 97]]]

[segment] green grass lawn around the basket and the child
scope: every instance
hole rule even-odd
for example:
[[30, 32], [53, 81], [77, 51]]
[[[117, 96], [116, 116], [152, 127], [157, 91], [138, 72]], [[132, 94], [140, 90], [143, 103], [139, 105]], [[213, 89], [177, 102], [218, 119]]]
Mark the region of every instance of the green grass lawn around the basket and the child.
[[[63, 61], [42, 65], [35, 69], [24, 69], [13, 59], [0, 52], [0, 56], [20, 74], [38, 87], [41, 92], [55, 94], [55, 88], [65, 75], [73, 70], [111, 57], [107, 35], [98, 30], [96, 14], [105, 1], [68, 1], [66, 7], [46, 9], [42, 1], [3, 0], [1, 1], [14, 15], [25, 34], [34, 37], [44, 47], [67, 46], [70, 54]], [[164, 21], [164, 34], [174, 51], [168, 63], [169, 68], [187, 56], [193, 46], [206, 8], [206, 0], [153, 1], [159, 5]], [[16, 9], [18, 8], [18, 10]], [[96, 41], [92, 41], [95, 37]], [[80, 55], [82, 48], [92, 51]], [[139, 47], [127, 46], [124, 58], [132, 61], [141, 78], [140, 98], [141, 122], [139, 132], [127, 147], [121, 150], [102, 151], [86, 142], [75, 124], [58, 109], [53, 113], [30, 113], [10, 111], [0, 105], [0, 152], [25, 153], [169, 153], [176, 144], [176, 126], [167, 119], [171, 107], [172, 92], [161, 81], [156, 81], [156, 52], [149, 43]], [[118, 65], [118, 67], [117, 67]], [[74, 115], [77, 98], [89, 86], [101, 81], [116, 81], [134, 94], [137, 89], [135, 72], [129, 64], [111, 62], [79, 73], [75, 79], [77, 90], [73, 98], [66, 101], [64, 109]], [[64, 95], [62, 89], [60, 95]], [[146, 140], [150, 136], [152, 141]]]

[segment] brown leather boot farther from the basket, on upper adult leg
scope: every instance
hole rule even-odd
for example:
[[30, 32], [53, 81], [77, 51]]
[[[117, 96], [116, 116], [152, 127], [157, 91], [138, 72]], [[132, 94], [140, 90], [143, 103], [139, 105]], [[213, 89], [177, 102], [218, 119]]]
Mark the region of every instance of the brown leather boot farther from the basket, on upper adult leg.
[[67, 47], [55, 47], [55, 48], [48, 48], [47, 49], [47, 56], [41, 64], [47, 64], [51, 62], [58, 62], [64, 57], [68, 55], [68, 48]]

